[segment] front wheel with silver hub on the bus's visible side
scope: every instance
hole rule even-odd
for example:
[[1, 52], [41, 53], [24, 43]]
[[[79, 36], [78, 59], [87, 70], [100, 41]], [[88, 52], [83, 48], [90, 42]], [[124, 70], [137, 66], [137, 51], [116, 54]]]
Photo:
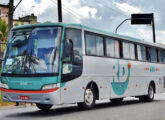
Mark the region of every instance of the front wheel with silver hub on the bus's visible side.
[[87, 88], [84, 94], [84, 102], [78, 103], [78, 107], [83, 110], [92, 109], [95, 106], [96, 94], [94, 89]]

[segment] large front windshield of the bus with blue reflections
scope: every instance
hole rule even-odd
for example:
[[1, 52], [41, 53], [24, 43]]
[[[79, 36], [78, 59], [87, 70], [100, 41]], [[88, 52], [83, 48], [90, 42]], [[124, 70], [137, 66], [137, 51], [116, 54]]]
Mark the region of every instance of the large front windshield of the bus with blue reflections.
[[6, 74], [57, 73], [61, 27], [13, 30], [2, 66]]

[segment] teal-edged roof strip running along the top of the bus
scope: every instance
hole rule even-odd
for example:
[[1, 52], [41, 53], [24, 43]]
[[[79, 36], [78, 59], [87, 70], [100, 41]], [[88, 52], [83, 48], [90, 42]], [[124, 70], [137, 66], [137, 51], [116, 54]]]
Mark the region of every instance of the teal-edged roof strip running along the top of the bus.
[[99, 29], [92, 28], [92, 27], [88, 27], [88, 26], [85, 26], [85, 25], [82, 25], [82, 24], [39, 23], [39, 24], [30, 24], [30, 25], [17, 26], [15, 28], [13, 28], [12, 30], [23, 29], [23, 28], [31, 28], [31, 27], [57, 26], [57, 25], [58, 26], [63, 26], [63, 27], [78, 27], [78, 28], [82, 28], [82, 29], [85, 29], [85, 30], [88, 30], [88, 31], [102, 33], [104, 35], [108, 35], [108, 36], [119, 38], [119, 39], [129, 40], [129, 41], [132, 41], [132, 42], [137, 42], [137, 43], [141, 43], [141, 44], [156, 46], [156, 47], [160, 47], [160, 48], [165, 48], [164, 44], [151, 43], [151, 42], [144, 41], [142, 39], [137, 39], [137, 38], [134, 38], [134, 37], [120, 35], [120, 34], [111, 33], [111, 32], [106, 32], [106, 31], [99, 30]]

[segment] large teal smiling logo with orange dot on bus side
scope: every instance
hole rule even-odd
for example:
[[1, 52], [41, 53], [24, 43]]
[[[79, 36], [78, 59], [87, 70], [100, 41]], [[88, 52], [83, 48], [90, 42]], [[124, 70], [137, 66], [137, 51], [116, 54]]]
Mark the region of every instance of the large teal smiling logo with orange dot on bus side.
[[117, 64], [113, 65], [113, 82], [112, 89], [117, 95], [123, 95], [128, 87], [130, 79], [131, 63], [128, 61], [116, 60]]

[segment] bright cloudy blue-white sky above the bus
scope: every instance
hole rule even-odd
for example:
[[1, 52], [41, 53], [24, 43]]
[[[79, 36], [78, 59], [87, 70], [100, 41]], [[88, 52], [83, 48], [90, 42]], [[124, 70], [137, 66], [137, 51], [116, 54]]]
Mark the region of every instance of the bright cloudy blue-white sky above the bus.
[[[19, 0], [15, 0], [15, 5]], [[57, 0], [23, 0], [15, 11], [14, 17], [30, 13], [38, 16], [38, 22], [57, 22]], [[8, 3], [8, 0], [0, 0]], [[154, 13], [156, 39], [165, 44], [165, 0], [62, 0], [63, 22], [80, 23], [108, 32], [115, 28], [131, 13]], [[152, 42], [152, 27], [124, 23], [119, 34], [129, 35]]]

